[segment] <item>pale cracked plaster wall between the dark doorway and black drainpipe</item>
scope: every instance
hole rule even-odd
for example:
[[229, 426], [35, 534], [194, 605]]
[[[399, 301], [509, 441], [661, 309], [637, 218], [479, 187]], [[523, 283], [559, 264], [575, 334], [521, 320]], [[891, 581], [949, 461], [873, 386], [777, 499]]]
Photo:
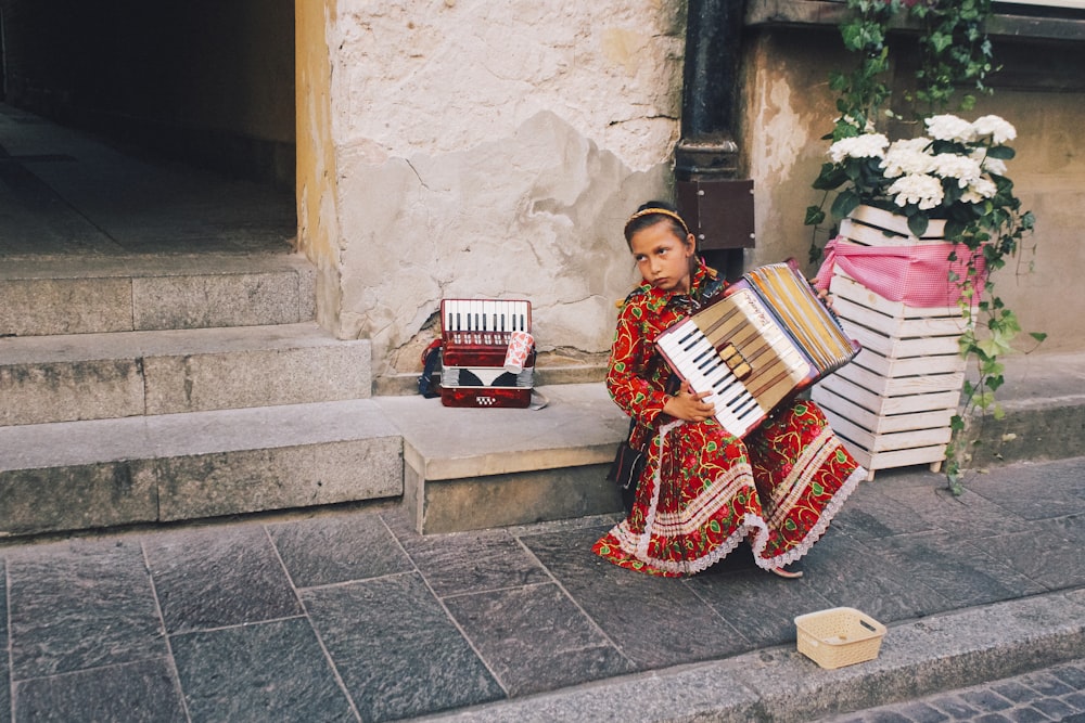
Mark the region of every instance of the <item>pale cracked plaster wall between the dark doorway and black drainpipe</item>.
[[375, 375], [417, 373], [442, 298], [522, 297], [541, 350], [607, 351], [622, 224], [667, 193], [684, 3], [327, 2], [328, 325], [372, 339]]

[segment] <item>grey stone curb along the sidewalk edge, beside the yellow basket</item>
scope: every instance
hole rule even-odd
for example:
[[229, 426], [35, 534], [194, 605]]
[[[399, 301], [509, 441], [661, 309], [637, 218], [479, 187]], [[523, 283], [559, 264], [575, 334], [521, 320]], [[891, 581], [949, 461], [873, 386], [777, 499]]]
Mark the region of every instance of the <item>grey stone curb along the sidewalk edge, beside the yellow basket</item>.
[[[676, 631], [678, 635], [688, 631]], [[794, 646], [418, 720], [796, 723], [1010, 677], [1085, 649], [1085, 589], [897, 623], [875, 660], [822, 670]]]

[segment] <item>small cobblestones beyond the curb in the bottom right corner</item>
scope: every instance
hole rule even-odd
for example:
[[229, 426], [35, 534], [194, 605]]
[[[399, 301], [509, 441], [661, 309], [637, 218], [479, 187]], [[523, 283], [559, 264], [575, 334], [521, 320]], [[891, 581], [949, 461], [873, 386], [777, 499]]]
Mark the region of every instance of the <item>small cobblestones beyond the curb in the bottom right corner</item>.
[[820, 723], [1085, 723], [1085, 658]]

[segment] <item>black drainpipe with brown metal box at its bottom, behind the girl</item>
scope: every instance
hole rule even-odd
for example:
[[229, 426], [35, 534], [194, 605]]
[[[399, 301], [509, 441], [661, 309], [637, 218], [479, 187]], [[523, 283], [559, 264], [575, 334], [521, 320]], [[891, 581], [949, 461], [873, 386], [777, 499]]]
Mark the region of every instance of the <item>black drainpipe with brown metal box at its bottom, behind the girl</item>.
[[675, 149], [678, 208], [710, 266], [742, 273], [754, 245], [753, 181], [739, 178], [743, 0], [689, 0], [681, 140]]

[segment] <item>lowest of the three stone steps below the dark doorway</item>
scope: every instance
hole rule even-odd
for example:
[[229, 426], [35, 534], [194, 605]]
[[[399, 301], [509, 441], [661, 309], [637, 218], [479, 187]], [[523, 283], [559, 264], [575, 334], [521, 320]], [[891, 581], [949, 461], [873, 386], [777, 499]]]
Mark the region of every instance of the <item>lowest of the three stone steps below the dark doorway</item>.
[[0, 427], [0, 535], [403, 494], [372, 400]]

